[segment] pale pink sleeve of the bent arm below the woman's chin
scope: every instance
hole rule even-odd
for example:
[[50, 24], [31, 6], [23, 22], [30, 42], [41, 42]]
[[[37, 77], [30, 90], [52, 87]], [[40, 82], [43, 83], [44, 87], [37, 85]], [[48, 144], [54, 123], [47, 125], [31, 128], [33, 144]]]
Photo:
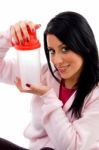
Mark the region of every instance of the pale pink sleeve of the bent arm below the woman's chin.
[[82, 118], [70, 121], [53, 89], [41, 96], [43, 124], [57, 150], [89, 150], [99, 140], [99, 87]]

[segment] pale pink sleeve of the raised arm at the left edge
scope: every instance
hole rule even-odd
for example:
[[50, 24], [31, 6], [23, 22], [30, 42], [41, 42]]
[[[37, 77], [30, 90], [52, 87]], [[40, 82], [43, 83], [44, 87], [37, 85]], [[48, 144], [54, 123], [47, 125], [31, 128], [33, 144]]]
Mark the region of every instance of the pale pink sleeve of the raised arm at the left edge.
[[18, 73], [16, 59], [5, 59], [11, 47], [10, 31], [0, 34], [0, 82], [13, 84]]

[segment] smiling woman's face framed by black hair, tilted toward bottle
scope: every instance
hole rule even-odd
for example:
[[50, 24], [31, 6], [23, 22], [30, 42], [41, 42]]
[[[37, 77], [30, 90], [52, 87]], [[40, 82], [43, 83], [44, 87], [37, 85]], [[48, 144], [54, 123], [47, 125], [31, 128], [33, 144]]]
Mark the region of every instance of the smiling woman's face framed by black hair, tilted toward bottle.
[[68, 49], [53, 34], [47, 35], [47, 46], [51, 62], [57, 68], [61, 78], [77, 81], [83, 67], [82, 57]]

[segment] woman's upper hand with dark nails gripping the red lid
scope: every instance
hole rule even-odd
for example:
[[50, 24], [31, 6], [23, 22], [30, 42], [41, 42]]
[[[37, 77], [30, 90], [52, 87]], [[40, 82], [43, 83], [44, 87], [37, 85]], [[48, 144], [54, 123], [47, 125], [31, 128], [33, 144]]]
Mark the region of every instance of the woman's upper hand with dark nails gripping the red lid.
[[13, 39], [13, 43], [23, 44], [24, 39], [23, 39], [22, 34], [24, 35], [24, 38], [26, 39], [26, 41], [29, 41], [30, 37], [29, 37], [27, 26], [31, 32], [35, 32], [35, 30], [38, 29], [41, 25], [34, 24], [32, 21], [19, 21], [15, 25], [12, 25], [10, 27], [10, 32], [11, 32], [11, 37]]

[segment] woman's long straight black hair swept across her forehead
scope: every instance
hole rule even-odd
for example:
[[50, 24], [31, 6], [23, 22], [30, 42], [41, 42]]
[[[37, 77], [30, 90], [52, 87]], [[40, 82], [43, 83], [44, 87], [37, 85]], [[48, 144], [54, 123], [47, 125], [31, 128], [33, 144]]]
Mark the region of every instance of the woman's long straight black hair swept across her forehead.
[[99, 81], [98, 49], [93, 31], [87, 20], [76, 12], [59, 13], [49, 21], [44, 32], [44, 49], [49, 69], [53, 77], [59, 82], [51, 67], [46, 40], [47, 34], [55, 35], [84, 60], [83, 70], [77, 83], [76, 96], [69, 109], [72, 111], [72, 115], [79, 118], [85, 97]]

